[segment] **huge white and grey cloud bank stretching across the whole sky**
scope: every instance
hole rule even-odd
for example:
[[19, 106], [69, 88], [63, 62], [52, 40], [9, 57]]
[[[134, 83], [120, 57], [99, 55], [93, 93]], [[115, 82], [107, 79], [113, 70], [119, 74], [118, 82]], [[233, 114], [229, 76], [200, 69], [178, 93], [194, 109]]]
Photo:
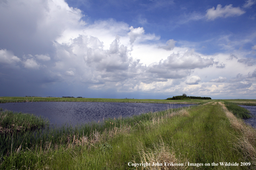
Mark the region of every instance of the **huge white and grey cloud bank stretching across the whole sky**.
[[[233, 10], [233, 7], [230, 9]], [[0, 24], [0, 39], [5, 40], [0, 41], [0, 84], [4, 82], [7, 85], [9, 81], [8, 85], [13, 85], [13, 79], [24, 79], [23, 86], [28, 81], [40, 83], [31, 83], [37, 87], [35, 94], [31, 95], [37, 95], [37, 91], [43, 87], [47, 91], [59, 91], [57, 95], [72, 95], [62, 93], [74, 90], [73, 87], [79, 93], [86, 91], [84, 94], [92, 89], [136, 93], [150, 91], [159, 94], [215, 94], [235, 87], [229, 87], [229, 82], [224, 80], [229, 76], [227, 74], [234, 74], [233, 77], [237, 74], [238, 69], [234, 69], [232, 64], [243, 66], [241, 62], [247, 64], [253, 61], [237, 62], [234, 59], [244, 59], [237, 53], [218, 59], [191, 49], [185, 51], [187, 47], [175, 47], [176, 41], [173, 39], [168, 40], [164, 46], [158, 41], [160, 36], [147, 34], [143, 27], [134, 28], [114, 19], [86, 24], [83, 18], [81, 10], [69, 7], [64, 0], [0, 3], [0, 23], [4, 23]], [[139, 48], [141, 53], [137, 53], [138, 57], [135, 58], [132, 52]], [[173, 50], [172, 54], [168, 50]], [[140, 60], [140, 54], [145, 51], [147, 55], [144, 61], [148, 63]], [[225, 63], [227, 60], [230, 61]], [[3, 68], [7, 65], [16, 66], [19, 72], [12, 67]], [[255, 82], [256, 71], [253, 67], [243, 68], [247, 68], [247, 73], [250, 73], [247, 75], [239, 72], [245, 76], [238, 76], [235, 83], [243, 81], [249, 87], [249, 82]], [[223, 75], [224, 78], [199, 83], [200, 77], [206, 75], [214, 78]], [[214, 85], [222, 81], [223, 85]], [[53, 84], [56, 85], [55, 89]], [[67, 84], [74, 86], [67, 87]], [[9, 89], [15, 89], [13, 87]], [[250, 89], [253, 89], [253, 85]], [[240, 88], [241, 93], [247, 90]], [[31, 88], [27, 91], [31, 91]]]

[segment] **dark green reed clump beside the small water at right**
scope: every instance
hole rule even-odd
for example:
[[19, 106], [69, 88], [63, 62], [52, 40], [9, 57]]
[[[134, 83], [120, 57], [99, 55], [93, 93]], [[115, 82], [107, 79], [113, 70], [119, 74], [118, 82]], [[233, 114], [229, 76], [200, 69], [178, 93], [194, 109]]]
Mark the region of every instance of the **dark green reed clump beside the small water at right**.
[[252, 118], [249, 110], [227, 101], [224, 101], [224, 104], [227, 109], [232, 112], [237, 118]]

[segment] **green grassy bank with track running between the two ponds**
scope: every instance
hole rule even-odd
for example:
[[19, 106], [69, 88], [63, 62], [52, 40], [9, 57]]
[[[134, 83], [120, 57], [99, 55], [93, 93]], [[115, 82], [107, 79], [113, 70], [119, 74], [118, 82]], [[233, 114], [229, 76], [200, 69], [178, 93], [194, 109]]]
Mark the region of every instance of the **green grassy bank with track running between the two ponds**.
[[[89, 127], [90, 131], [85, 131]], [[109, 119], [104, 124], [67, 129], [54, 134], [56, 140], [53, 136], [47, 140], [41, 138], [40, 143], [31, 146], [22, 145], [21, 149], [19, 145], [13, 147], [11, 154], [2, 155], [0, 169], [256, 168], [255, 129], [232, 117], [222, 103]], [[158, 162], [159, 166], [130, 166], [142, 162], [151, 165]], [[164, 162], [177, 166], [164, 166]], [[213, 162], [237, 162], [239, 166], [212, 166]]]

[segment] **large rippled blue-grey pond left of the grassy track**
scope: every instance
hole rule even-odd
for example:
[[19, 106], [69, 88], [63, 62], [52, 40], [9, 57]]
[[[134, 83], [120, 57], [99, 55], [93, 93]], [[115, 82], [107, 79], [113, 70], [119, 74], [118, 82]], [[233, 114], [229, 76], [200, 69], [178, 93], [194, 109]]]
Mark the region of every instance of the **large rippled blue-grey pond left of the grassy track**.
[[1, 103], [0, 107], [14, 112], [32, 113], [50, 119], [52, 124], [82, 124], [103, 121], [103, 118], [119, 118], [156, 112], [191, 104], [162, 103], [110, 103], [110, 102], [26, 102]]

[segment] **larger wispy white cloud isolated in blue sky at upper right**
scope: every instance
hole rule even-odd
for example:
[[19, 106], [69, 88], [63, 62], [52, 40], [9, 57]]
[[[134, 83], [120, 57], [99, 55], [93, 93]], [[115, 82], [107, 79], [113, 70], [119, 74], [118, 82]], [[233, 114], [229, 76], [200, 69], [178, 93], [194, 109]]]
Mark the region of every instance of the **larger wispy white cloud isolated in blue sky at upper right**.
[[226, 5], [222, 8], [222, 5], [217, 5], [216, 9], [213, 6], [211, 9], [206, 10], [206, 17], [208, 20], [215, 20], [216, 18], [222, 17], [227, 18], [231, 16], [239, 16], [244, 14], [245, 11], [241, 10], [239, 7], [233, 7], [232, 4]]

